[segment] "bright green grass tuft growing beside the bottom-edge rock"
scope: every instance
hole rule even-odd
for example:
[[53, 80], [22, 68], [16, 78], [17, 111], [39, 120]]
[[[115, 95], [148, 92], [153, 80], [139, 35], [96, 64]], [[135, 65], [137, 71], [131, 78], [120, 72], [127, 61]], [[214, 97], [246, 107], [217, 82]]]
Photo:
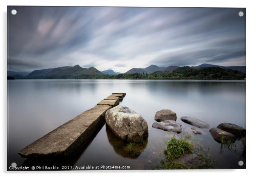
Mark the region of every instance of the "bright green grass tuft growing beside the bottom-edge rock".
[[179, 140], [172, 137], [165, 143], [167, 144], [167, 147], [164, 152], [168, 160], [177, 159], [182, 155], [192, 153], [193, 151], [193, 144], [188, 140]]

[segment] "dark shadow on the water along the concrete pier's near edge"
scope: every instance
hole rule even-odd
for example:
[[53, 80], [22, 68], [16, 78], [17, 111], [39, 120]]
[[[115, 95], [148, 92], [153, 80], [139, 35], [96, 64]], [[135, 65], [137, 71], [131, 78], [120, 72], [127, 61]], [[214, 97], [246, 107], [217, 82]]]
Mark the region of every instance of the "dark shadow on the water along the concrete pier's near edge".
[[[97, 134], [100, 132], [100, 129], [104, 126], [105, 121], [103, 121], [98, 127], [97, 131], [95, 131], [90, 138], [80, 146], [76, 152], [67, 156], [67, 157], [31, 157], [27, 158], [23, 162], [23, 166], [28, 166], [31, 169], [31, 166], [58, 166], [61, 170], [61, 166], [74, 166], [77, 160], [81, 157], [81, 155], [85, 152]], [[40, 169], [38, 169], [40, 170]], [[41, 169], [42, 170], [42, 169]], [[44, 169], [45, 170], [45, 169]], [[65, 169], [71, 170], [71, 169]]]

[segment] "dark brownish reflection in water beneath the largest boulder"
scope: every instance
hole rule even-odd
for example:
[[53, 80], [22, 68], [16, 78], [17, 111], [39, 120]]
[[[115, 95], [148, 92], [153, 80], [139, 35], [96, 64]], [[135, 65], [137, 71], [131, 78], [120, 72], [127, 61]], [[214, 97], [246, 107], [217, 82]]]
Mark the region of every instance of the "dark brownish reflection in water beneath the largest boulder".
[[122, 157], [136, 159], [141, 155], [141, 153], [148, 144], [148, 140], [144, 140], [141, 143], [125, 143], [124, 141], [117, 138], [116, 135], [114, 135], [114, 133], [111, 131], [107, 124], [106, 133], [108, 136], [108, 141], [111, 146], [113, 146], [114, 151]]

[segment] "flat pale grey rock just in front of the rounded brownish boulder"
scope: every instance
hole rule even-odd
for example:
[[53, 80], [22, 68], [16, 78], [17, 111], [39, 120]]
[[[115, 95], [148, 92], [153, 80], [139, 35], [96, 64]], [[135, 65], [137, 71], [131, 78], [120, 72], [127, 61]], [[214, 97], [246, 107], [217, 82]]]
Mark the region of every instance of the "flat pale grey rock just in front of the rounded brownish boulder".
[[177, 123], [176, 121], [171, 121], [171, 120], [164, 120], [161, 122], [154, 122], [152, 127], [156, 129], [162, 129], [168, 132], [177, 132], [181, 133], [181, 124]]

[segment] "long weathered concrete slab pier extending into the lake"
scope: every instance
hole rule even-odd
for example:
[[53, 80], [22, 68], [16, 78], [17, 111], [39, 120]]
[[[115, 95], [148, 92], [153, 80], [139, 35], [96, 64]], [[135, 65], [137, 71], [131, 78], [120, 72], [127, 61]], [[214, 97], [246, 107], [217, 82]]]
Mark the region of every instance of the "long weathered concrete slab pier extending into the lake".
[[22, 157], [68, 156], [78, 149], [97, 130], [105, 113], [119, 104], [125, 93], [113, 93], [96, 106], [44, 135], [21, 149]]

